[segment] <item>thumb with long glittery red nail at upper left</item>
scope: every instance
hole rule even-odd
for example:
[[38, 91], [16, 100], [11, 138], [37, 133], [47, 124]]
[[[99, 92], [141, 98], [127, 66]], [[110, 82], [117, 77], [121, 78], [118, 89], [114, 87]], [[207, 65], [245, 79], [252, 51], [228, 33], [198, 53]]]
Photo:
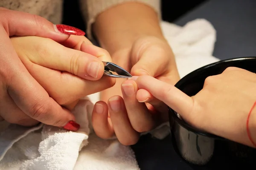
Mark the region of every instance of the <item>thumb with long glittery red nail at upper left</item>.
[[11, 36], [38, 36], [61, 42], [67, 40], [70, 34], [84, 35], [84, 31], [65, 25], [53, 25], [51, 22], [38, 15], [21, 11], [12, 11], [0, 8], [0, 24]]

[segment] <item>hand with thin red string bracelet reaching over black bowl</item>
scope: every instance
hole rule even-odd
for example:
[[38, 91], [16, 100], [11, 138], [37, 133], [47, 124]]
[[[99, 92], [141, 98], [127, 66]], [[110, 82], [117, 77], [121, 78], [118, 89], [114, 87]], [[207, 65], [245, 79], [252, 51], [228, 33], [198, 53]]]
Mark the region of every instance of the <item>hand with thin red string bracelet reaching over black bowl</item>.
[[252, 110], [248, 122], [253, 142], [247, 135], [247, 119], [256, 101], [256, 74], [229, 67], [221, 74], [207, 77], [203, 89], [192, 97], [173, 85], [149, 76], [138, 77], [133, 83], [139, 89], [138, 100], [151, 98], [150, 95], [141, 95], [148, 91], [193, 127], [255, 147], [256, 108]]

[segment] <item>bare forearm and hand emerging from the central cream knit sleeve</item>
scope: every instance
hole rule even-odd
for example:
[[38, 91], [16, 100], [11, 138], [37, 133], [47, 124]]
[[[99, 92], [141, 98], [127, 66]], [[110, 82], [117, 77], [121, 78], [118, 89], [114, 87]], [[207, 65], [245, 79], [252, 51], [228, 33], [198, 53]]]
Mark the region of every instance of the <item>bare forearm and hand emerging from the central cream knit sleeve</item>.
[[[136, 2], [114, 6], [99, 14], [93, 31], [113, 62], [131, 75], [150, 75], [172, 85], [180, 79], [172, 49], [163, 37], [156, 12], [149, 6]], [[122, 144], [131, 145], [141, 132], [153, 129], [168, 117], [154, 114], [149, 103], [138, 102], [137, 89], [124, 81], [116, 79], [112, 88], [101, 92], [102, 102], [95, 105], [93, 112], [93, 127], [103, 139], [115, 133]], [[105, 115], [108, 111], [109, 116]]]

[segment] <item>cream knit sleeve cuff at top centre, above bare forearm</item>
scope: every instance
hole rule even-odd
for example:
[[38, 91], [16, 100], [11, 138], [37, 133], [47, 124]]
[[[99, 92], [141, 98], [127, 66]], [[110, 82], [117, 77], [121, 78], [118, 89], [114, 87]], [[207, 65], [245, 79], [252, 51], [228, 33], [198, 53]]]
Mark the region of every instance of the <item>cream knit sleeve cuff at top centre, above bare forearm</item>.
[[160, 0], [79, 0], [81, 11], [84, 17], [84, 20], [87, 22], [87, 37], [92, 39], [91, 25], [95, 22], [95, 19], [98, 14], [105, 11], [112, 6], [118, 5], [125, 2], [138, 2], [144, 3], [145, 5], [153, 8], [159, 18], [161, 17], [160, 13]]

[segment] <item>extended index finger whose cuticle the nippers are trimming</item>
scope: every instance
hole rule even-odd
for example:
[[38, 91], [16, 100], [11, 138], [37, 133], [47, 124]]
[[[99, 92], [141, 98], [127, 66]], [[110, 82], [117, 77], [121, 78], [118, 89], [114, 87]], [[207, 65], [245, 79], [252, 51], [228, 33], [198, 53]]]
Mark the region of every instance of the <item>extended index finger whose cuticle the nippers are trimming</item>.
[[145, 89], [154, 97], [187, 119], [193, 108], [193, 99], [173, 85], [151, 76], [140, 76], [136, 80], [139, 89]]

